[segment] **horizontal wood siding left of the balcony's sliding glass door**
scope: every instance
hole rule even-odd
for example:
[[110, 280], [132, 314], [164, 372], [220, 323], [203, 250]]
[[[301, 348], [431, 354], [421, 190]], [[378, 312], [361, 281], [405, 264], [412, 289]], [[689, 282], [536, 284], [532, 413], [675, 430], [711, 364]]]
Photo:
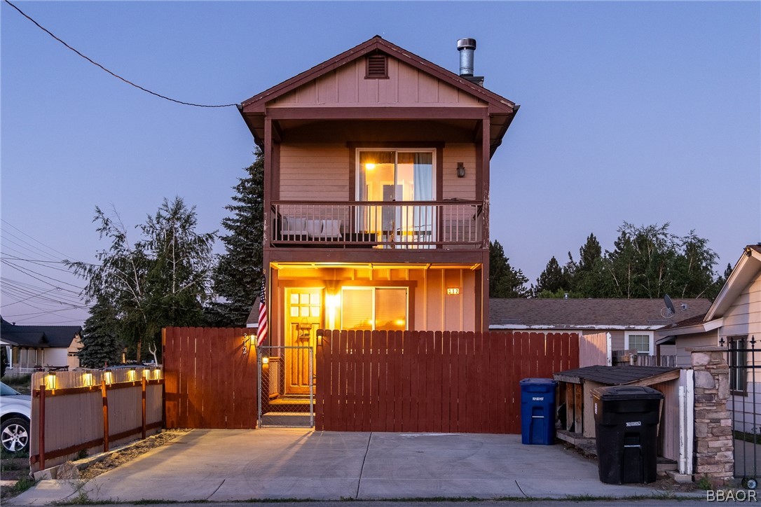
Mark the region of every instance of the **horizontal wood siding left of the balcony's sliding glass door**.
[[349, 201], [349, 149], [281, 144], [279, 182], [282, 201]]

